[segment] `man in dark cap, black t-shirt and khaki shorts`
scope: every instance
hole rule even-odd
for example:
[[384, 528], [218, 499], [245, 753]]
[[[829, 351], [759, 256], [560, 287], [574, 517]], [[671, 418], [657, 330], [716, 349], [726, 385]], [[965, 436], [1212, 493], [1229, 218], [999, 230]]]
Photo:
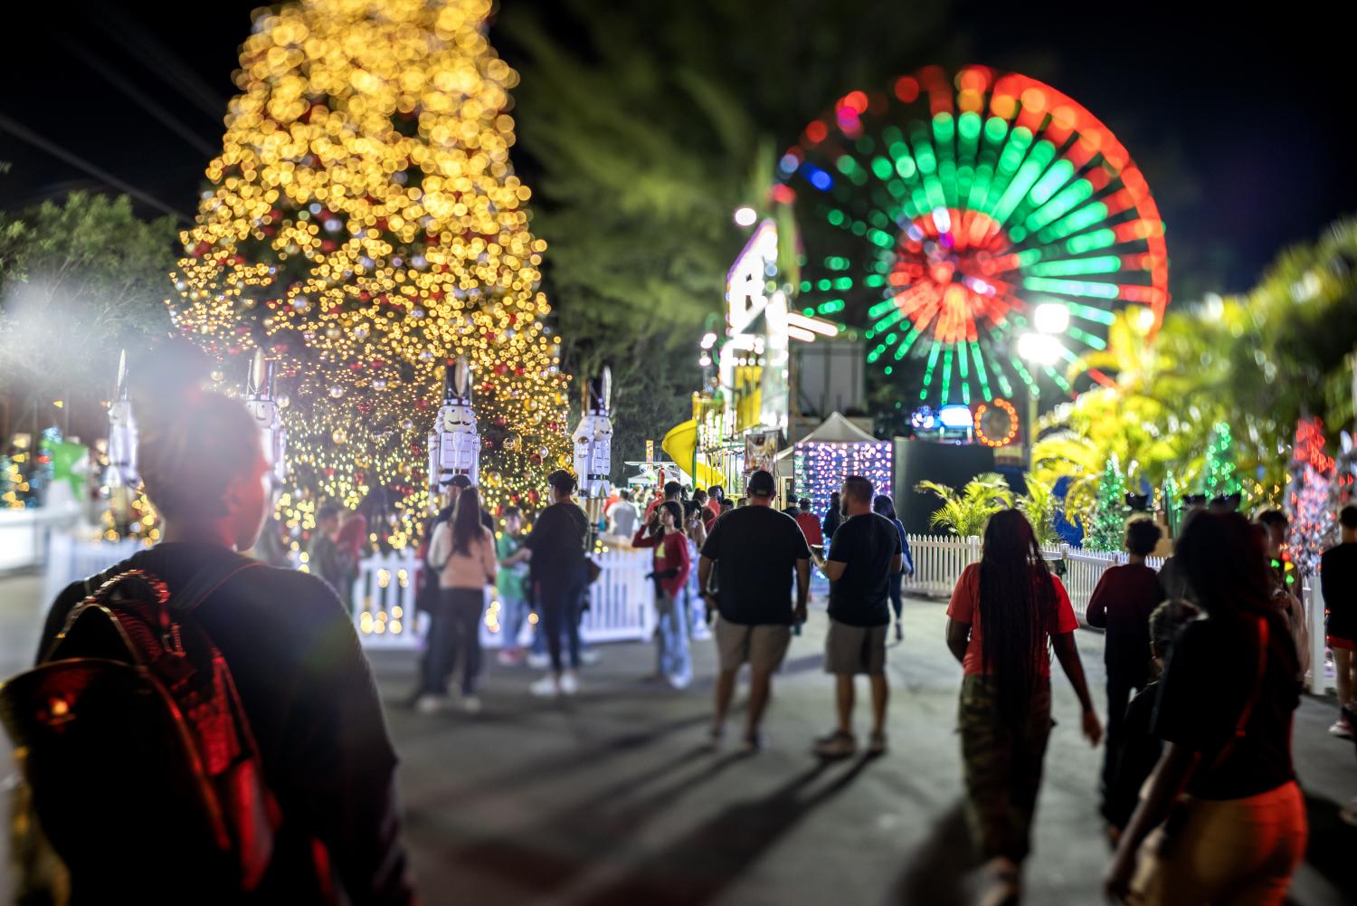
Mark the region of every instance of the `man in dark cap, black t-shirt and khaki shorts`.
[[[716, 621], [716, 713], [712, 742], [719, 742], [735, 691], [735, 674], [749, 663], [749, 710], [745, 747], [757, 751], [763, 742], [759, 724], [768, 704], [772, 674], [782, 666], [791, 644], [792, 622], [806, 621], [810, 591], [810, 549], [797, 520], [771, 507], [773, 479], [767, 471], [749, 475], [749, 505], [718, 519], [697, 561], [697, 583]], [[711, 587], [716, 566], [716, 591]], [[797, 606], [791, 607], [791, 575], [797, 573]]]

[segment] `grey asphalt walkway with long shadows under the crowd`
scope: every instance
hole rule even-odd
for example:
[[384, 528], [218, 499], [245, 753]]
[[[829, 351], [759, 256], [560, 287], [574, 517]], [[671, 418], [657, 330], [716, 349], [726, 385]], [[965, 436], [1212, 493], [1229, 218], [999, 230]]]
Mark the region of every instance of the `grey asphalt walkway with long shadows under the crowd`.
[[[26, 666], [41, 622], [39, 581], [0, 579], [0, 675]], [[889, 653], [892, 748], [821, 763], [811, 740], [832, 727], [821, 672], [825, 617], [813, 610], [775, 681], [757, 755], [711, 750], [715, 652], [695, 642], [685, 691], [647, 683], [654, 649], [598, 647], [582, 694], [543, 701], [536, 674], [489, 666], [484, 709], [423, 717], [403, 706], [414, 655], [373, 652], [402, 758], [406, 839], [423, 901], [495, 905], [911, 903], [973, 898], [954, 733], [961, 668], [943, 644], [944, 604], [911, 599], [905, 642]], [[1102, 636], [1079, 633], [1102, 698]], [[866, 689], [860, 689], [864, 698]], [[742, 691], [737, 693], [737, 701]], [[858, 731], [866, 733], [866, 701]], [[1311, 841], [1288, 902], [1357, 902], [1357, 829], [1338, 822], [1357, 793], [1353, 746], [1330, 738], [1333, 698], [1296, 716], [1297, 773]], [[1101, 750], [1079, 735], [1077, 702], [1054, 681], [1054, 716], [1027, 864], [1027, 903], [1099, 903], [1109, 850], [1095, 812]], [[742, 713], [727, 736], [738, 739]], [[0, 744], [0, 777], [12, 773]], [[0, 796], [7, 793], [0, 792]], [[5, 803], [7, 805], [7, 803]], [[8, 901], [0, 875], [0, 901]]]

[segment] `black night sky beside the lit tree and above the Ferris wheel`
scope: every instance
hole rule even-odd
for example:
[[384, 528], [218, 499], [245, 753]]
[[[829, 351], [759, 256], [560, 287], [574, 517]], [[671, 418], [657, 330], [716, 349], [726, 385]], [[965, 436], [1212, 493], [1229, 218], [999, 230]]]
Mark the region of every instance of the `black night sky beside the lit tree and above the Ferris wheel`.
[[[15, 3], [26, 4], [24, 23], [11, 20], [7, 29], [0, 113], [191, 213], [205, 149], [220, 140], [221, 111], [233, 91], [236, 48], [256, 4], [180, 4], [178, 15], [156, 16], [160, 4], [132, 0], [88, 0], [76, 4], [81, 15], [58, 12], [57, 4]], [[636, 5], [617, 4], [619, 12]], [[1182, 269], [1193, 268], [1220, 274], [1220, 281], [1200, 283], [1239, 291], [1282, 246], [1311, 239], [1327, 221], [1357, 211], [1357, 168], [1339, 134], [1352, 98], [1345, 62], [1352, 23], [1327, 12], [1246, 20], [1244, 4], [1234, 4], [1228, 20], [1186, 18], [1182, 10], [1197, 4], [1175, 5], [1160, 12], [1121, 4], [1120, 12], [1103, 15], [1096, 4], [963, 0], [939, 35], [939, 58], [946, 43], [950, 58], [959, 49], [961, 58], [1027, 72], [1080, 101], [1145, 168], [1168, 223], [1177, 292], [1183, 292]], [[512, 48], [497, 43], [514, 62]], [[927, 62], [932, 60], [904, 60], [898, 68]], [[109, 72], [195, 139], [157, 122]], [[216, 101], [217, 113], [209, 113], [204, 95]], [[818, 113], [806, 110], [803, 120]], [[791, 137], [780, 136], [779, 144]], [[3, 126], [0, 160], [12, 164], [0, 175], [0, 208], [103, 185]], [[531, 181], [531, 162], [520, 160], [520, 170]]]

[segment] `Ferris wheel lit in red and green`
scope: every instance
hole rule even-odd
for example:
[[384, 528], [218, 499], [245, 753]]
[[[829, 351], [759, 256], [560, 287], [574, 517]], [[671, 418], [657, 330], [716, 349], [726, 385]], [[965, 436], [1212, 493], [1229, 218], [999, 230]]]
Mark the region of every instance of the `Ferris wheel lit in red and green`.
[[1031, 384], [1015, 342], [1030, 327], [1058, 326], [1042, 368], [1069, 390], [1060, 365], [1106, 346], [1115, 308], [1139, 308], [1152, 333], [1168, 304], [1144, 175], [1088, 110], [1035, 79], [930, 67], [854, 91], [779, 173], [799, 216], [830, 227], [806, 240], [799, 304], [863, 326], [867, 360], [896, 380], [906, 356], [923, 363], [923, 401]]

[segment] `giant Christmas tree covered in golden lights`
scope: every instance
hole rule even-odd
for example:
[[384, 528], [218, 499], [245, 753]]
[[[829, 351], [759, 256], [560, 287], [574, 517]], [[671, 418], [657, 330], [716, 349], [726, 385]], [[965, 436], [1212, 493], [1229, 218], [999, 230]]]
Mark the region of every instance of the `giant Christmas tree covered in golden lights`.
[[[282, 364], [292, 481], [387, 489], [408, 538], [441, 375], [472, 367], [493, 503], [569, 463], [567, 378], [537, 291], [546, 243], [513, 173], [517, 73], [490, 0], [304, 0], [255, 19], [213, 192], [183, 234], [178, 327], [242, 382]], [[290, 500], [296, 501], [294, 497]]]

